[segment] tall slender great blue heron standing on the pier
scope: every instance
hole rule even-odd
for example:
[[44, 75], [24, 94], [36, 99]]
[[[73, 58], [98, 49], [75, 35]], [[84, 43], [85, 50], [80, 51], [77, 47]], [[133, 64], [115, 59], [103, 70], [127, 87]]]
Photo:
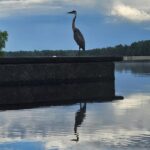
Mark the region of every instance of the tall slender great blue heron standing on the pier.
[[68, 13], [69, 14], [74, 14], [74, 18], [73, 18], [73, 21], [72, 21], [72, 30], [73, 30], [73, 34], [74, 34], [74, 40], [79, 45], [79, 51], [80, 51], [80, 49], [83, 49], [83, 51], [85, 51], [84, 37], [83, 37], [82, 33], [80, 32], [80, 30], [78, 28], [76, 28], [76, 26], [75, 26], [75, 21], [76, 21], [76, 18], [77, 18], [77, 11], [73, 10], [73, 11], [70, 11]]

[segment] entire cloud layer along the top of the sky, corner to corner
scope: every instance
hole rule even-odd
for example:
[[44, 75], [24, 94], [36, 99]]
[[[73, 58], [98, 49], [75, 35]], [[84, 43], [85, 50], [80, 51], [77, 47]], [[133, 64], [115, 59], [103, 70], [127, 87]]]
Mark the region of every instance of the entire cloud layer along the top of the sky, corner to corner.
[[[150, 21], [149, 0], [0, 0], [0, 17], [16, 14], [47, 14], [83, 9], [99, 11], [112, 20], [128, 20], [136, 23]], [[80, 10], [81, 10], [80, 9]]]

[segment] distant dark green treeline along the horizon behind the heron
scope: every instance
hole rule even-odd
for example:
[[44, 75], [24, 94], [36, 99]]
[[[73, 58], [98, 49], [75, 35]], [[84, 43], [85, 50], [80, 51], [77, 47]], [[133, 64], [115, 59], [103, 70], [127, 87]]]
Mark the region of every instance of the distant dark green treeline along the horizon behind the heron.
[[134, 42], [131, 45], [97, 48], [92, 50], [43, 50], [5, 52], [5, 56], [150, 56], [150, 40]]

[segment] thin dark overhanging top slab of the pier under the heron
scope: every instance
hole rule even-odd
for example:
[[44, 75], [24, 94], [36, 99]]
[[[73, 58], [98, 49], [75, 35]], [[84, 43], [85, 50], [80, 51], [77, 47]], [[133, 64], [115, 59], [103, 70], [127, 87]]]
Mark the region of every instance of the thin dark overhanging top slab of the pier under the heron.
[[4, 57], [0, 64], [89, 63], [122, 61], [123, 57]]

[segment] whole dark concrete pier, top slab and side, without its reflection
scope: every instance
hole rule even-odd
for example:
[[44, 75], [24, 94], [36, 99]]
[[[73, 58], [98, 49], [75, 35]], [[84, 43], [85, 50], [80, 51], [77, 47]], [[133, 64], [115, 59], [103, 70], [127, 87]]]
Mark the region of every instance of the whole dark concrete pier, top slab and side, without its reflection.
[[0, 86], [45, 84], [80, 80], [113, 80], [110, 57], [1, 58]]

